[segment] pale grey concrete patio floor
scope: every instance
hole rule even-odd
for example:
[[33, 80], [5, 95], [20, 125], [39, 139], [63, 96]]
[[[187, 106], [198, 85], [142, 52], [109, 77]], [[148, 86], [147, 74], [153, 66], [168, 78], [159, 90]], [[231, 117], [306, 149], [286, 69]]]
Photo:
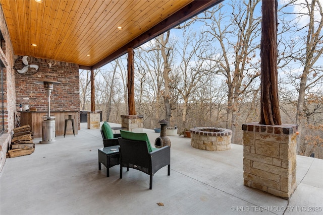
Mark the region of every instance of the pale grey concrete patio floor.
[[[144, 132], [153, 145], [159, 133]], [[119, 165], [110, 177], [103, 165], [98, 170], [102, 137], [87, 123], [52, 144], [35, 138], [33, 154], [5, 163], [0, 214], [323, 214], [323, 160], [297, 156], [298, 187], [287, 201], [243, 185], [243, 146], [209, 152], [192, 148], [189, 138], [170, 139], [171, 175], [160, 169], [149, 190], [140, 171], [124, 168], [119, 179]]]

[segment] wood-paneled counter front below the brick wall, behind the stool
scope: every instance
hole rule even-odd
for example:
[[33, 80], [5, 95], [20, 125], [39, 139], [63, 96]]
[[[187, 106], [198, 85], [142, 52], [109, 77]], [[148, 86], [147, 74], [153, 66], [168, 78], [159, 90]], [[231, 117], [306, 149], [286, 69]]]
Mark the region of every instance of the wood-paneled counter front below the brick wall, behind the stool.
[[[77, 134], [78, 128], [78, 113], [77, 111], [50, 111], [51, 116], [55, 116], [56, 135], [64, 135], [65, 115], [74, 115], [74, 128]], [[20, 125], [30, 125], [34, 132], [34, 137], [42, 137], [42, 121], [43, 116], [47, 115], [47, 111], [20, 111]], [[67, 129], [72, 128], [72, 123], [68, 122]], [[72, 134], [73, 130], [67, 130], [66, 135]]]

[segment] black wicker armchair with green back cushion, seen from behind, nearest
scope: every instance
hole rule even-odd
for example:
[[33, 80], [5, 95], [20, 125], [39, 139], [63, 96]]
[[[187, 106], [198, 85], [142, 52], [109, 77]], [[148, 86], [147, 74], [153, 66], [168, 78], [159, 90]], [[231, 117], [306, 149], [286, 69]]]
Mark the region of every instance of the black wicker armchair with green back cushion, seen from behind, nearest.
[[149, 189], [152, 189], [152, 176], [160, 168], [168, 165], [168, 175], [171, 174], [171, 148], [169, 146], [148, 152], [147, 142], [119, 137], [120, 178], [122, 168], [140, 170], [150, 176]]

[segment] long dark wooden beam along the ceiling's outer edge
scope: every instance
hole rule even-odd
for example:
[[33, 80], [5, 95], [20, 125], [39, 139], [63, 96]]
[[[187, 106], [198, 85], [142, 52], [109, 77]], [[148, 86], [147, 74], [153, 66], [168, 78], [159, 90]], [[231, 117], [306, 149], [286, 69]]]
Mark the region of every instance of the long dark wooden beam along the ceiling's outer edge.
[[171, 15], [169, 18], [161, 21], [154, 27], [150, 28], [134, 40], [130, 41], [114, 53], [110, 54], [109, 56], [105, 57], [104, 59], [100, 60], [96, 64], [92, 66], [92, 69], [99, 68], [118, 57], [127, 53], [128, 48], [137, 48], [138, 46], [148, 42], [149, 40], [155, 38], [156, 36], [163, 34], [164, 32], [172, 29], [179, 24], [185, 22], [186, 20], [196, 16], [197, 14], [223, 2], [224, 0], [211, 0], [211, 1], [194, 1], [188, 4], [186, 7], [182, 8], [175, 14]]

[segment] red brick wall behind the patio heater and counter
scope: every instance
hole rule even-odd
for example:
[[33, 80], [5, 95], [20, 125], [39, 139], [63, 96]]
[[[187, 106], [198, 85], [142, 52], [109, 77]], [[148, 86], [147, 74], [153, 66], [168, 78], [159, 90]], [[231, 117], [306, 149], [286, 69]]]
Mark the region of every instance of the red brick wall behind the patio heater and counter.
[[[34, 82], [52, 80], [62, 84], [54, 85], [50, 95], [50, 111], [80, 111], [79, 101], [79, 67], [78, 64], [56, 61], [49, 65], [45, 59], [28, 57], [29, 64], [39, 65], [37, 73], [30, 69], [25, 74], [16, 76], [16, 108], [19, 105], [36, 107], [37, 111], [47, 111], [48, 96], [43, 85]], [[21, 65], [21, 58], [15, 63]], [[78, 114], [78, 129], [80, 129], [80, 114]]]

